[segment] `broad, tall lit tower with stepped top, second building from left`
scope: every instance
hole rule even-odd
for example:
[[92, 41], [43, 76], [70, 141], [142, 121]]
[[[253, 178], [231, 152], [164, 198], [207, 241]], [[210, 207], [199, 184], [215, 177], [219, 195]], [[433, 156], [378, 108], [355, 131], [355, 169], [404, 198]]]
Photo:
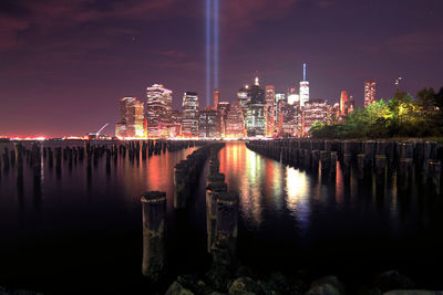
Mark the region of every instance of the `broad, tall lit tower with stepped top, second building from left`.
[[[163, 137], [167, 125], [171, 124], [173, 92], [162, 84], [146, 88], [146, 131], [148, 137]], [[166, 131], [167, 134], [167, 131]]]

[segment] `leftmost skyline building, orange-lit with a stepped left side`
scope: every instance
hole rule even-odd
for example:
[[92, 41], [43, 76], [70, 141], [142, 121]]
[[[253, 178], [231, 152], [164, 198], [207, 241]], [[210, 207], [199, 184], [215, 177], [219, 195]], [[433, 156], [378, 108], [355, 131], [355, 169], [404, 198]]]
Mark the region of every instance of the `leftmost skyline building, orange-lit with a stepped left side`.
[[136, 97], [123, 97], [120, 101], [121, 122], [115, 126], [117, 137], [143, 137], [143, 103]]

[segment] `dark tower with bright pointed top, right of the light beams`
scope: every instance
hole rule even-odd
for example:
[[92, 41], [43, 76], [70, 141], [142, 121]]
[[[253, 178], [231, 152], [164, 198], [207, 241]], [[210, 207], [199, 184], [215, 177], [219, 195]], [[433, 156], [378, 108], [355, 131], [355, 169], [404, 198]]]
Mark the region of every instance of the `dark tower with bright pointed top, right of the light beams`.
[[260, 88], [258, 77], [248, 91], [246, 131], [248, 136], [266, 135], [265, 91]]

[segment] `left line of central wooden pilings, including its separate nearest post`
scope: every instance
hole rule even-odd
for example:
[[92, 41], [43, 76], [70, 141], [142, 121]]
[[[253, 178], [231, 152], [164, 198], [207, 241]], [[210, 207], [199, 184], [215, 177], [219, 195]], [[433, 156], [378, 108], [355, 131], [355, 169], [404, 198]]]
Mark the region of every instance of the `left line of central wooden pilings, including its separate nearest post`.
[[[206, 141], [207, 143], [207, 141]], [[220, 143], [207, 143], [194, 150], [174, 168], [174, 208], [184, 210], [204, 168], [206, 160], [224, 147]], [[166, 193], [146, 192], [142, 197], [143, 211], [143, 261], [142, 273], [152, 282], [165, 275], [166, 266]]]

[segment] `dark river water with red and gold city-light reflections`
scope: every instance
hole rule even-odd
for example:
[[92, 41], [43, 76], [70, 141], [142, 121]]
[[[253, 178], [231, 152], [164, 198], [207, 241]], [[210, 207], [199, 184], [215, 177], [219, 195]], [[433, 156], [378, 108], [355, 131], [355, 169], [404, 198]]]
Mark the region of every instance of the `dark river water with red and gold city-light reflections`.
[[[72, 168], [63, 162], [58, 175], [43, 161], [37, 183], [25, 166], [22, 186], [13, 167], [2, 169], [0, 285], [49, 294], [146, 294], [140, 197], [147, 190], [167, 193], [172, 276], [203, 270], [209, 263], [207, 165], [188, 211], [175, 212], [172, 200], [173, 167], [192, 151], [119, 159], [110, 172], [99, 161], [87, 173], [84, 161]], [[243, 263], [264, 271], [333, 273], [351, 285], [368, 282], [373, 272], [399, 268], [425, 286], [443, 287], [442, 272], [432, 271], [443, 262], [443, 201], [427, 196], [425, 187], [414, 183], [400, 193], [394, 175], [384, 183], [354, 175], [348, 179], [340, 167], [336, 179], [324, 181], [243, 143], [227, 144], [219, 159], [229, 190], [240, 196]]]

